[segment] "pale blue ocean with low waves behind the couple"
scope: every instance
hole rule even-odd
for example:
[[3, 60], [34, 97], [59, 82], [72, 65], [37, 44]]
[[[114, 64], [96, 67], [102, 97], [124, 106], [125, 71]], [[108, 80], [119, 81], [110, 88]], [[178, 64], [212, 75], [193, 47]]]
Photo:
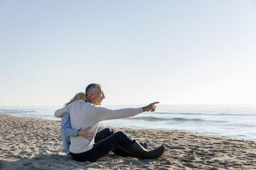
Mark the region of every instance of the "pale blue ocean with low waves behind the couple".
[[[102, 106], [119, 109], [143, 105]], [[0, 106], [0, 114], [61, 120], [54, 117], [54, 111], [58, 108], [61, 106]], [[256, 104], [158, 104], [155, 112], [106, 120], [100, 124], [138, 129], [170, 129], [256, 141]]]

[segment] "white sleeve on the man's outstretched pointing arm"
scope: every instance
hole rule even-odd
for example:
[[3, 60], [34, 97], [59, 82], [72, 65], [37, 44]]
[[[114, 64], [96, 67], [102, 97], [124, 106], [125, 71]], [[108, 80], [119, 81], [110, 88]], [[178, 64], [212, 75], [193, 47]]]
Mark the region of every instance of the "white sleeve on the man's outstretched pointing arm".
[[94, 109], [95, 109], [95, 118], [98, 122], [102, 120], [133, 117], [143, 112], [142, 108], [125, 108], [120, 110], [109, 110], [108, 108], [95, 106]]

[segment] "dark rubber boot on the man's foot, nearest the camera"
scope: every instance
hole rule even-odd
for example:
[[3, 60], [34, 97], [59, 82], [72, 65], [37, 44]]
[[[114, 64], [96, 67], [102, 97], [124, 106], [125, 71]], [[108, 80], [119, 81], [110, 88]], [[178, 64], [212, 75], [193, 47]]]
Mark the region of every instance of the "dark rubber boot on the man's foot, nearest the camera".
[[127, 152], [130, 153], [132, 156], [138, 157], [140, 159], [154, 159], [161, 157], [164, 153], [164, 150], [164, 146], [160, 146], [155, 150], [147, 151], [140, 145], [140, 143], [135, 141], [131, 148], [127, 149]]

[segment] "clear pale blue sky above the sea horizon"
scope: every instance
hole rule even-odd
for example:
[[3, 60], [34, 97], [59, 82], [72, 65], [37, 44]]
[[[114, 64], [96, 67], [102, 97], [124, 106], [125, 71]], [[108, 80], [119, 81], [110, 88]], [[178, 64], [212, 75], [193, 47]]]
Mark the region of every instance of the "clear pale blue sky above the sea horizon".
[[0, 106], [255, 104], [256, 2], [0, 1]]

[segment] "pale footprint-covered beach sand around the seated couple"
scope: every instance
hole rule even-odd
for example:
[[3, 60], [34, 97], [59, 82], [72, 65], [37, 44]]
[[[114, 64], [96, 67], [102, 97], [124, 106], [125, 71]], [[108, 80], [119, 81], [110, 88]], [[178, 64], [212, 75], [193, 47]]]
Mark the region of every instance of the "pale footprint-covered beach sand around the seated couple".
[[97, 162], [65, 155], [60, 121], [0, 115], [0, 169], [256, 169], [256, 142], [182, 131], [119, 128], [148, 149], [166, 146], [160, 159], [109, 153]]

